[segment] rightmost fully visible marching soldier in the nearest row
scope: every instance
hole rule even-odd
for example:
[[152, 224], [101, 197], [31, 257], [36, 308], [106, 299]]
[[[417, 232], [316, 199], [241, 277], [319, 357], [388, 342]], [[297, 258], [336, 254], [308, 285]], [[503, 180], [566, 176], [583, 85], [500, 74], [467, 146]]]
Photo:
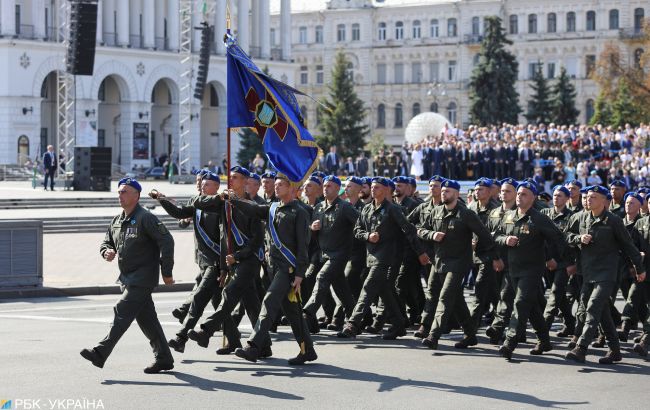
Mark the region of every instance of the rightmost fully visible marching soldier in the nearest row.
[[639, 279], [645, 267], [639, 250], [621, 218], [606, 209], [609, 192], [601, 186], [588, 188], [589, 212], [580, 214], [577, 221], [567, 228], [567, 238], [572, 246], [579, 246], [584, 283], [581, 300], [586, 303], [586, 317], [582, 335], [577, 345], [566, 354], [567, 360], [584, 363], [587, 346], [602, 326], [609, 345], [605, 357], [599, 363], [612, 364], [622, 360], [620, 342], [609, 309], [609, 298], [616, 286], [618, 252], [627, 255], [637, 269]]

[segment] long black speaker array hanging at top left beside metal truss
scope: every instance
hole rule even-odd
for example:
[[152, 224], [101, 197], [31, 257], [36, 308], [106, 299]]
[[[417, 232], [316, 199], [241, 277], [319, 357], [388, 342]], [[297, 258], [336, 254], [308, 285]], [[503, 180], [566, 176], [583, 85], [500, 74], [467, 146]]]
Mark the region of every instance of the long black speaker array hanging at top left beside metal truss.
[[97, 1], [72, 0], [70, 44], [66, 70], [73, 75], [93, 75], [97, 38]]

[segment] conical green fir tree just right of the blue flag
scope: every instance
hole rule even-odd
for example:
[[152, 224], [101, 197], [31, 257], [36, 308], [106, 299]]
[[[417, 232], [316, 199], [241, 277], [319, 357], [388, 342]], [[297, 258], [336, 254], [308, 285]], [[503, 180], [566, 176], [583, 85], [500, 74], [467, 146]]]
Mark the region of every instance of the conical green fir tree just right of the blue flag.
[[325, 151], [336, 145], [343, 157], [354, 157], [363, 149], [368, 126], [364, 121], [363, 101], [354, 91], [354, 81], [347, 70], [348, 60], [339, 50], [332, 68], [328, 97], [324, 101], [327, 109], [322, 111], [319, 124], [321, 135], [316, 137], [316, 142]]

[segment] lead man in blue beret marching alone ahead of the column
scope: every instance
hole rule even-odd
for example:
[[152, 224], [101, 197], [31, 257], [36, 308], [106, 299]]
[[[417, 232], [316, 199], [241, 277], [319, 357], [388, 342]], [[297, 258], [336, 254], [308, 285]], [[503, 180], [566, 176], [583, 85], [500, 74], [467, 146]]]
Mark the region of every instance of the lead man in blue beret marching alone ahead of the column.
[[151, 293], [162, 271], [166, 285], [174, 283], [174, 238], [155, 215], [140, 206], [142, 187], [134, 178], [118, 182], [117, 193], [123, 211], [113, 218], [100, 246], [102, 257], [111, 262], [117, 256], [122, 297], [115, 305], [115, 317], [108, 335], [81, 356], [97, 367], [113, 351], [133, 320], [138, 322], [153, 348], [155, 362], [145, 373], [159, 373], [174, 368], [174, 358], [167, 346], [165, 333], [158, 321]]

